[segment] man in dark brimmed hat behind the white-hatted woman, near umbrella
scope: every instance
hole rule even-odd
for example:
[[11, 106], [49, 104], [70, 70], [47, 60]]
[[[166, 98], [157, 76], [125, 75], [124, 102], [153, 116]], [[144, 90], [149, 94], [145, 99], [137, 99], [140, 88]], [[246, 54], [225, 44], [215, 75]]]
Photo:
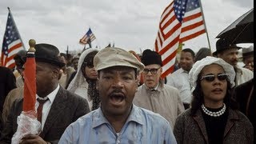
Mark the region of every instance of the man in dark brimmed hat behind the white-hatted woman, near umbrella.
[[230, 44], [225, 38], [220, 38], [216, 42], [216, 51], [213, 53], [214, 56], [222, 58], [224, 61], [234, 66], [234, 71], [236, 72], [234, 82], [236, 86], [254, 78], [254, 73], [251, 70], [238, 66], [239, 49], [241, 49], [241, 47]]

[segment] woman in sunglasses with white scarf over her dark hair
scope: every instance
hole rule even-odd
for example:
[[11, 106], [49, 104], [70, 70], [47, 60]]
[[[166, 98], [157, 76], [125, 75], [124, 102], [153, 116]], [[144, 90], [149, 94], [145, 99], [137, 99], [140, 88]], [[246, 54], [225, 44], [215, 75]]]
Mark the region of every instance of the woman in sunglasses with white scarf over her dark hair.
[[94, 68], [94, 56], [97, 53], [98, 49], [95, 48], [82, 52], [78, 61], [78, 71], [67, 88], [74, 94], [86, 98], [90, 110], [96, 110], [100, 104], [98, 90], [96, 89], [98, 73]]

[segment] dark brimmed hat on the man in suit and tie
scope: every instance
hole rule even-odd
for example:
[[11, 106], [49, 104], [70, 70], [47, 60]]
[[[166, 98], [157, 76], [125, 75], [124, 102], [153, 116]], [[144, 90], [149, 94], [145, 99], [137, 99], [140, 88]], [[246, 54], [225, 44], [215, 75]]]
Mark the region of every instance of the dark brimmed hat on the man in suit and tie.
[[65, 63], [60, 59], [60, 53], [56, 46], [39, 43], [34, 46], [34, 49], [36, 62], [46, 62], [58, 67], [65, 66]]

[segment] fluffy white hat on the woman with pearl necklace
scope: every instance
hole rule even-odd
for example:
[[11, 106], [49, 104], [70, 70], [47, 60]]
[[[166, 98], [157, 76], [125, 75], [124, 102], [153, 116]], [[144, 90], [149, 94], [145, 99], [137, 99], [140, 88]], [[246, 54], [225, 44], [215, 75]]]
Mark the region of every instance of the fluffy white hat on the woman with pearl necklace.
[[192, 87], [191, 92], [193, 92], [195, 87], [197, 86], [198, 74], [201, 73], [202, 69], [205, 66], [208, 66], [213, 63], [216, 63], [219, 66], [223, 67], [225, 72], [229, 74], [228, 78], [230, 80], [231, 86], [232, 87], [234, 86], [234, 77], [235, 77], [234, 67], [231, 66], [229, 63], [225, 62], [222, 58], [207, 56], [206, 58], [202, 58], [202, 60], [195, 62], [192, 69], [190, 70], [189, 80], [190, 80], [190, 85]]

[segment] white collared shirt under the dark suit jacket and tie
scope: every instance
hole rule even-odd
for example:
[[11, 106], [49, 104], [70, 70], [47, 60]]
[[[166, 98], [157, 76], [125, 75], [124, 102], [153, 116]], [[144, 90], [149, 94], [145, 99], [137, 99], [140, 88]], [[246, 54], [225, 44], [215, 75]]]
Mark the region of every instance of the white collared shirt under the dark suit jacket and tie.
[[[40, 98], [38, 96], [38, 94], [36, 94], [36, 98], [38, 99], [43, 99], [43, 100], [46, 100], [46, 98], [49, 98], [48, 101], [46, 101], [43, 106], [42, 106], [42, 123], [41, 123], [41, 128], [43, 130], [43, 126], [45, 125], [45, 122], [46, 122], [46, 118], [49, 114], [49, 111], [50, 111], [50, 107], [51, 105], [53, 104], [54, 102], [54, 99], [56, 97], [56, 94], [58, 93], [58, 90], [59, 90], [59, 85], [57, 86], [57, 88], [52, 91], [50, 94], [48, 94], [45, 98]], [[36, 101], [35, 103], [35, 108], [38, 109], [38, 106], [39, 106], [39, 102]]]

